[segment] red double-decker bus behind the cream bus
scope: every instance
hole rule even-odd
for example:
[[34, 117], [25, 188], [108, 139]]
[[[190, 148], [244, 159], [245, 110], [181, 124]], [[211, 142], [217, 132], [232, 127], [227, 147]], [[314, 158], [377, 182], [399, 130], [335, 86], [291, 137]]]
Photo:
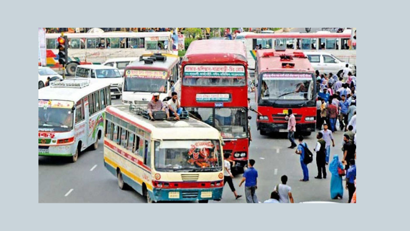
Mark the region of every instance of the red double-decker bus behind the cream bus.
[[248, 62], [242, 42], [200, 40], [190, 44], [181, 63], [181, 106], [191, 117], [221, 132], [235, 161], [233, 171], [248, 163]]

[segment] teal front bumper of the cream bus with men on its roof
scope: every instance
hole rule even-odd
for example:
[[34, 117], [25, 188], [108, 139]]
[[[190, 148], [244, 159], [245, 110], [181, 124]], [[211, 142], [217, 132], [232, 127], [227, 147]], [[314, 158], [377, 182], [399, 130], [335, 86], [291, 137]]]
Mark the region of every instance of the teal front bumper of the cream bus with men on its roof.
[[178, 188], [165, 189], [153, 188], [154, 201], [196, 201], [196, 200], [220, 200], [222, 187], [217, 188]]

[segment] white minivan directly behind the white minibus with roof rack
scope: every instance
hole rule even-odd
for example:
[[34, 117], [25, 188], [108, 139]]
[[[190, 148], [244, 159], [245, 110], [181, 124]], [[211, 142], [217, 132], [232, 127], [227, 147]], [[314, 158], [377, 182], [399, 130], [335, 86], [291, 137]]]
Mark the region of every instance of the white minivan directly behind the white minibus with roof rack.
[[119, 99], [122, 95], [123, 78], [115, 67], [104, 65], [78, 65], [75, 78], [92, 78], [105, 83], [110, 83], [111, 96]]

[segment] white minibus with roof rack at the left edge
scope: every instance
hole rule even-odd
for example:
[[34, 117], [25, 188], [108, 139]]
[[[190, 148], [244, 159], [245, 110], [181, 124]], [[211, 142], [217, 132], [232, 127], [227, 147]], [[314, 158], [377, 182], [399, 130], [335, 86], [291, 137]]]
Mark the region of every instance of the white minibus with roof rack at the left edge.
[[38, 89], [38, 156], [76, 162], [87, 147], [97, 149], [110, 104], [110, 85], [97, 81], [53, 81]]

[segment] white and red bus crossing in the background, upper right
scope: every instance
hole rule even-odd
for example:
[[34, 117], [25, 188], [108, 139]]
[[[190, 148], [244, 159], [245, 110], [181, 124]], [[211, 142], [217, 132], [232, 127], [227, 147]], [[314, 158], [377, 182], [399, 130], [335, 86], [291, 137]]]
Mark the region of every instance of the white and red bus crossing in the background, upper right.
[[245, 44], [250, 69], [255, 68], [256, 51], [283, 46], [297, 51], [325, 51], [338, 59], [356, 65], [356, 43], [352, 43], [352, 31], [343, 33], [318, 31], [316, 33], [247, 33], [239, 34], [236, 40]]

